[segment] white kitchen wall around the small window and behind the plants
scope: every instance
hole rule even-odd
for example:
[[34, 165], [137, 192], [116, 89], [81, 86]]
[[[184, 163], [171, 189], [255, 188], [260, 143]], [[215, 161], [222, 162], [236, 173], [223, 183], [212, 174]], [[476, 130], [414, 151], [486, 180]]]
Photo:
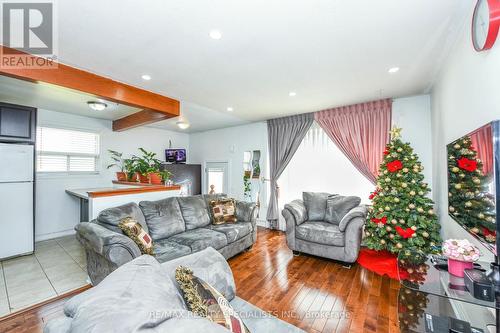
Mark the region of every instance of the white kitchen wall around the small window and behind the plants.
[[140, 127], [125, 132], [113, 132], [111, 121], [82, 117], [68, 113], [38, 110], [38, 125], [60, 128], [90, 130], [101, 135], [101, 158], [99, 174], [68, 175], [38, 174], [36, 182], [36, 222], [37, 240], [48, 239], [73, 232], [79, 222], [79, 201], [65, 193], [68, 188], [92, 188], [111, 186], [115, 170], [107, 170], [108, 149], [137, 154], [137, 148], [158, 154], [164, 160], [164, 150], [169, 140], [179, 148], [189, 147], [189, 136], [152, 127]]

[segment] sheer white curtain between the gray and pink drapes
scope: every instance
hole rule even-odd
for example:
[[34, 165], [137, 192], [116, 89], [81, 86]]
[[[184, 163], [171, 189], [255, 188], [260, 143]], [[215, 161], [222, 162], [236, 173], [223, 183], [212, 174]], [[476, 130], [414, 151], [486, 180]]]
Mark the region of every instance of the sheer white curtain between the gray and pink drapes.
[[[283, 206], [302, 199], [302, 192], [328, 192], [356, 195], [362, 203], [369, 203], [368, 196], [374, 186], [347, 159], [315, 122], [309, 129], [297, 152], [278, 180], [280, 187], [280, 212]], [[284, 219], [280, 216], [280, 229]]]

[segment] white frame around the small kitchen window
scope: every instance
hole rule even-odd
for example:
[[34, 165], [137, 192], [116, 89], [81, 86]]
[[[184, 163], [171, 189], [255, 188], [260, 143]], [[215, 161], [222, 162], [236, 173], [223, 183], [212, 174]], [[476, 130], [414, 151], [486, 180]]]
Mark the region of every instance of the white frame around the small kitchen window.
[[[65, 175], [99, 175], [100, 174], [100, 160], [101, 160], [101, 150], [102, 150], [102, 142], [101, 142], [101, 133], [97, 130], [90, 130], [90, 129], [82, 129], [78, 127], [70, 127], [70, 126], [58, 126], [58, 125], [51, 125], [51, 124], [38, 124], [36, 128], [36, 135], [38, 139], [38, 128], [51, 128], [51, 129], [58, 129], [58, 130], [66, 130], [66, 131], [75, 131], [75, 132], [83, 132], [83, 133], [90, 133], [90, 134], [95, 134], [97, 135], [98, 143], [98, 152], [97, 155], [94, 154], [82, 154], [82, 153], [65, 153], [65, 152], [50, 152], [50, 151], [44, 151], [40, 152], [37, 148], [38, 146], [35, 144], [35, 165], [38, 167], [38, 155], [45, 155], [45, 156], [66, 156], [66, 171], [38, 171], [36, 168], [36, 174], [39, 176], [42, 176], [43, 178], [50, 178], [50, 176], [65, 176]], [[69, 163], [70, 163], [70, 158], [71, 157], [94, 157], [95, 158], [95, 170], [94, 171], [70, 171], [69, 170]]]

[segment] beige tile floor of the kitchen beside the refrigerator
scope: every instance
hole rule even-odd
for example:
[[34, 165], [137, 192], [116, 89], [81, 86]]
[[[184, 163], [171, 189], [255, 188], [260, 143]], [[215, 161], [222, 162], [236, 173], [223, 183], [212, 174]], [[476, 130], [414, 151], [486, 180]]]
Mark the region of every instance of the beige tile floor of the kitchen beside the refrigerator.
[[0, 262], [0, 317], [86, 285], [85, 252], [75, 236], [35, 244], [35, 253]]

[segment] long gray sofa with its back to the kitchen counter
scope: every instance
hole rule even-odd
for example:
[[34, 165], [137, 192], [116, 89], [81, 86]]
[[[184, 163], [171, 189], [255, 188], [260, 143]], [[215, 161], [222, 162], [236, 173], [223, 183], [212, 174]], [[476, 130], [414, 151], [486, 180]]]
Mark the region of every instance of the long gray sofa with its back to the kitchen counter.
[[238, 222], [211, 223], [208, 204], [225, 195], [171, 197], [142, 201], [102, 211], [96, 220], [76, 226], [76, 237], [87, 254], [87, 271], [97, 285], [121, 265], [141, 256], [138, 246], [125, 236], [118, 223], [131, 216], [150, 234], [154, 256], [166, 262], [207, 247], [213, 247], [226, 259], [251, 248], [257, 240], [257, 207], [236, 201]]

